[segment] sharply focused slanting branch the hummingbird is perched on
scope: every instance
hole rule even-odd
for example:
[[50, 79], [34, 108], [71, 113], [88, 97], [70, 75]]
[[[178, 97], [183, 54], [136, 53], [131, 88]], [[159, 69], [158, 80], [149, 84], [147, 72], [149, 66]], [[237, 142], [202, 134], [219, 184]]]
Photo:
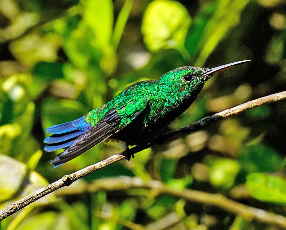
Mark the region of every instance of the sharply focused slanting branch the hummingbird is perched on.
[[[286, 99], [286, 91], [275, 93], [272, 95], [268, 95], [266, 97], [261, 97], [259, 99], [255, 99], [249, 102], [246, 102], [244, 104], [241, 104], [239, 106], [235, 106], [231, 109], [224, 110], [222, 112], [219, 112], [217, 114], [214, 114], [212, 116], [205, 117], [197, 122], [194, 122], [186, 127], [183, 127], [181, 129], [171, 131], [169, 133], [166, 133], [162, 136], [164, 141], [169, 141], [172, 139], [176, 139], [177, 137], [198, 131], [200, 129], [203, 129], [210, 125], [213, 122], [216, 122], [218, 120], [222, 120], [223, 118], [226, 118], [228, 116], [232, 116], [235, 114], [239, 114], [245, 110], [255, 108], [257, 106], [262, 106], [265, 104], [282, 101]], [[128, 150], [128, 154], [135, 154], [137, 152], [140, 152], [141, 150], [147, 149], [153, 145], [158, 144], [157, 142], [153, 142], [151, 144], [145, 145], [145, 146], [135, 146], [132, 149]], [[28, 204], [31, 204], [32, 202], [39, 200], [41, 197], [46, 196], [47, 194], [61, 188], [64, 186], [69, 186], [74, 181], [80, 179], [81, 177], [84, 177], [100, 168], [103, 168], [105, 166], [108, 166], [110, 164], [113, 164], [114, 162], [117, 162], [119, 160], [122, 160], [125, 157], [126, 151], [121, 153], [122, 155], [114, 155], [111, 156], [101, 162], [98, 162], [96, 164], [93, 164], [91, 166], [88, 166], [86, 168], [83, 168], [81, 170], [78, 170], [75, 173], [72, 173], [70, 175], [64, 175], [61, 179], [58, 181], [55, 181], [54, 183], [51, 183], [47, 185], [46, 187], [43, 187], [39, 189], [38, 191], [35, 191], [34, 193], [29, 194], [28, 196], [25, 196], [24, 198], [16, 201], [13, 204], [10, 204], [6, 208], [0, 210], [0, 221], [5, 219], [7, 216], [10, 216], [11, 214], [17, 212], [18, 210], [26, 207]], [[217, 196], [217, 195], [213, 195]], [[198, 200], [199, 202], [199, 200]]]

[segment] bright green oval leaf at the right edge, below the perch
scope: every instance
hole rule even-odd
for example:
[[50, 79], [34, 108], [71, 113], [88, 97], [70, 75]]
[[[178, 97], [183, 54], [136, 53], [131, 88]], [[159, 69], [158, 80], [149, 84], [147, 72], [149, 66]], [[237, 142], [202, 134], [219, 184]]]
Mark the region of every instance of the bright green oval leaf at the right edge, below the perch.
[[249, 194], [261, 201], [286, 205], [286, 181], [280, 177], [251, 173], [245, 183]]

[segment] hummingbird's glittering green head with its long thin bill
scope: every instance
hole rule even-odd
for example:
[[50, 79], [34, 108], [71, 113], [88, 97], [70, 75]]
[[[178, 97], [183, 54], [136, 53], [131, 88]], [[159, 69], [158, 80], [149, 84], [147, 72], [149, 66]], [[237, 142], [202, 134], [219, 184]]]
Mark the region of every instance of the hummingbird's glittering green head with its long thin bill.
[[158, 78], [158, 83], [168, 85], [173, 92], [178, 92], [182, 99], [196, 97], [201, 91], [205, 82], [208, 81], [208, 79], [210, 79], [214, 74], [245, 62], [249, 62], [249, 60], [232, 62], [211, 69], [183, 66], [171, 70]]

